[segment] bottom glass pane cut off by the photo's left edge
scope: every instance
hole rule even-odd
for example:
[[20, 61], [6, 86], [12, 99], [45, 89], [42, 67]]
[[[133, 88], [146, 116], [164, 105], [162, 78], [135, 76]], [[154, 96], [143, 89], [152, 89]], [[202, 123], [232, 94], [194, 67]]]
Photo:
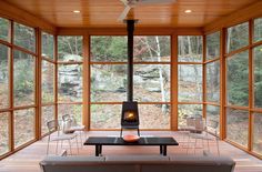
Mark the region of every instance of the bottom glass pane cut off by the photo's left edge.
[[9, 120], [10, 113], [0, 113], [0, 155], [10, 151], [9, 149]]

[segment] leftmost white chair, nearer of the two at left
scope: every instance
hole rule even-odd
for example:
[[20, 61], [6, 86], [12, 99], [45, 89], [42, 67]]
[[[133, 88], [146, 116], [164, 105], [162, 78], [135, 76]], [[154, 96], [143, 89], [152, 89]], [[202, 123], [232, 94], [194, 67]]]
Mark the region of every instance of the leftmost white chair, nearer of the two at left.
[[[68, 141], [69, 143], [69, 148], [70, 148], [70, 153], [72, 154], [72, 146], [71, 146], [71, 140], [75, 139], [75, 143], [77, 143], [77, 149], [78, 149], [78, 153], [79, 153], [79, 146], [78, 146], [78, 139], [77, 139], [77, 134], [75, 133], [70, 133], [70, 134], [60, 134], [60, 125], [58, 123], [58, 121], [56, 120], [52, 120], [52, 121], [49, 121], [47, 123], [48, 125], [48, 130], [49, 130], [49, 133], [48, 133], [48, 149], [47, 149], [47, 154], [49, 154], [49, 144], [50, 144], [50, 141], [56, 141], [57, 142], [57, 146], [56, 146], [56, 154], [58, 154], [58, 143], [59, 141], [61, 141], [61, 146], [62, 146], [62, 143], [63, 141]], [[51, 136], [51, 133], [53, 131], [57, 131], [57, 135], [56, 136]]]

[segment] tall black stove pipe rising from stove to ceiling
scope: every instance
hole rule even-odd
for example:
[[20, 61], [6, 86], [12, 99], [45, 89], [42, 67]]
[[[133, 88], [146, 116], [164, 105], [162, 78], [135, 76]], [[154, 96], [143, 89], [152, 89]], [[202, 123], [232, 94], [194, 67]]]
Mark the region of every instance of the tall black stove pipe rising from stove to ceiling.
[[133, 31], [135, 20], [127, 20], [128, 24], [128, 101], [133, 101]]

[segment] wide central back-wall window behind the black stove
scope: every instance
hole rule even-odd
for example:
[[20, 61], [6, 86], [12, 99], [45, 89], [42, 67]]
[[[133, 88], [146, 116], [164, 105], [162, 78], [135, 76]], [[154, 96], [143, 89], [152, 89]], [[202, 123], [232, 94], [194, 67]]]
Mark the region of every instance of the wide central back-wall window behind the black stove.
[[[140, 128], [170, 129], [170, 37], [134, 37], [133, 53]], [[120, 128], [121, 104], [127, 101], [127, 37], [91, 37], [91, 129]]]

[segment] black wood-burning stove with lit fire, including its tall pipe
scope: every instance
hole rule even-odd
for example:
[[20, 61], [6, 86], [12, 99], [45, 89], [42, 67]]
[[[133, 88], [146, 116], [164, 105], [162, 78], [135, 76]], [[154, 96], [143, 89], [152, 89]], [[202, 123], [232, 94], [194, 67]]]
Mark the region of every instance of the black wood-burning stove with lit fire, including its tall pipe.
[[123, 102], [121, 115], [121, 132], [123, 129], [137, 129], [139, 131], [139, 108], [133, 101], [133, 30], [135, 20], [127, 20], [128, 24], [128, 101]]

